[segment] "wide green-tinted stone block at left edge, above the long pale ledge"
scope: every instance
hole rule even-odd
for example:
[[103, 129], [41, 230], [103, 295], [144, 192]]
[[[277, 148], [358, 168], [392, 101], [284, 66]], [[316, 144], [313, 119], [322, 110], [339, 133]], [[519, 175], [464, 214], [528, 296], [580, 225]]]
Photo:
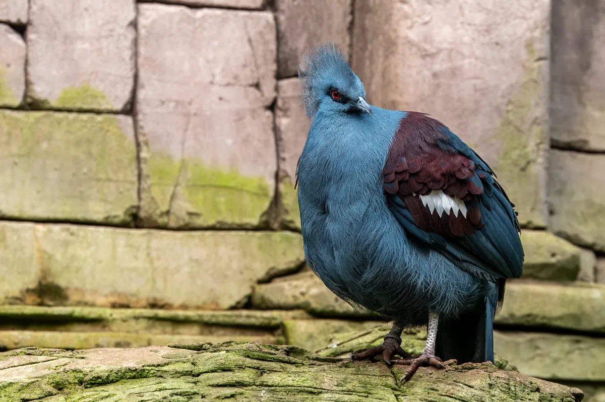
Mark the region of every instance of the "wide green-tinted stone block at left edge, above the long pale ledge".
[[0, 186], [3, 218], [132, 224], [132, 118], [0, 111]]

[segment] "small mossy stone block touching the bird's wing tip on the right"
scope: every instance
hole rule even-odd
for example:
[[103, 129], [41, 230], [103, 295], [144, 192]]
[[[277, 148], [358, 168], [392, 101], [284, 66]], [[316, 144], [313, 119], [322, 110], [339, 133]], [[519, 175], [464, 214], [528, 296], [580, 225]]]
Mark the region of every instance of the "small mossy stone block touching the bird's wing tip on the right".
[[565, 239], [541, 230], [522, 230], [525, 251], [524, 279], [575, 280], [581, 265], [581, 250]]

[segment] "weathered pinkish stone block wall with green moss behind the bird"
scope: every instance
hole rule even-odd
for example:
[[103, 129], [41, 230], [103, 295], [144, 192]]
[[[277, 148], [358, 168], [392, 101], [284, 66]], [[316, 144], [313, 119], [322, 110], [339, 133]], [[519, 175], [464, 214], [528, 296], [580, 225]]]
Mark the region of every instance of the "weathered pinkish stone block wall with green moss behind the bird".
[[0, 345], [319, 350], [378, 325], [302, 254], [296, 68], [333, 41], [517, 204], [497, 353], [604, 400], [604, 38], [605, 0], [0, 0]]

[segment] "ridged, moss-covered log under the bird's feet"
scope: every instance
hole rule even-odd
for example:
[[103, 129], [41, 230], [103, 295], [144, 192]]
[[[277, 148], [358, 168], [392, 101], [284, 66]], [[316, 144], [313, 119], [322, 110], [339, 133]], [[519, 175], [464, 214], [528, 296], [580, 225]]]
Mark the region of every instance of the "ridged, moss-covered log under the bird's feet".
[[404, 368], [246, 342], [138, 349], [24, 348], [0, 354], [0, 400], [579, 402], [579, 389], [489, 363]]

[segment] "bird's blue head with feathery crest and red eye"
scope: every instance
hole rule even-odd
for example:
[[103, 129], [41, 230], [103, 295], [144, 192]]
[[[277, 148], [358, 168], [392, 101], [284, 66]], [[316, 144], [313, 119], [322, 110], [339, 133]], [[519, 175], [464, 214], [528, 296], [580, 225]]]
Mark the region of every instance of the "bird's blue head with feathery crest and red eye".
[[321, 44], [306, 54], [298, 77], [303, 80], [302, 102], [310, 118], [320, 108], [350, 115], [372, 113], [364, 84], [334, 44]]

